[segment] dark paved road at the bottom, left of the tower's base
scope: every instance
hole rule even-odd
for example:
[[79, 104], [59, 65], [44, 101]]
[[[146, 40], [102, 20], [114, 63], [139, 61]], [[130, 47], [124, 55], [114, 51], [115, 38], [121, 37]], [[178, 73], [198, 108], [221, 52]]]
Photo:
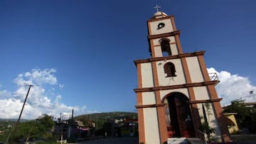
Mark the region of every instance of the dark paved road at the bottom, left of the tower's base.
[[[102, 138], [97, 140], [86, 140], [85, 144], [138, 144], [138, 138]], [[75, 143], [73, 143], [75, 144]]]

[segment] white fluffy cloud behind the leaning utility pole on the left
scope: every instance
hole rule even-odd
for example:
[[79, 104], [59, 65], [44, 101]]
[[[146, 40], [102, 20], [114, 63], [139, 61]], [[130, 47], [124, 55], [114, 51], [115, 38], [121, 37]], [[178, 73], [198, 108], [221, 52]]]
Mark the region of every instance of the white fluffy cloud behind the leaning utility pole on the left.
[[68, 106], [61, 102], [60, 94], [55, 95], [55, 87], [63, 89], [64, 86], [58, 83], [57, 77], [55, 77], [56, 72], [55, 69], [33, 69], [31, 72], [18, 74], [18, 77], [14, 79], [18, 86], [15, 92], [0, 89], [0, 118], [18, 118], [28, 92], [28, 85], [33, 86], [29, 91], [21, 118], [38, 118], [43, 113], [58, 118], [62, 113], [62, 118], [68, 118], [72, 109], [86, 113], [85, 106]]

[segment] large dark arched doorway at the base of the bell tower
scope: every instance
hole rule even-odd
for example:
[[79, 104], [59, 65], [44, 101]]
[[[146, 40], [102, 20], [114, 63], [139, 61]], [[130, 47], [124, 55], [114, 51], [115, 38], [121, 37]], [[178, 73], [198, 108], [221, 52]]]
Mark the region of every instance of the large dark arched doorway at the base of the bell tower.
[[188, 98], [179, 92], [166, 96], [165, 118], [169, 138], [194, 137], [193, 121]]

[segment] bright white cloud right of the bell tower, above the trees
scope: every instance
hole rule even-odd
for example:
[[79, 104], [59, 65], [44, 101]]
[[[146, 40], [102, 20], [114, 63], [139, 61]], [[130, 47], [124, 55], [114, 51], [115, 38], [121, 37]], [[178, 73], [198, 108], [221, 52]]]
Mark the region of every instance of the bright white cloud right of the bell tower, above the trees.
[[230, 101], [235, 99], [244, 99], [245, 102], [256, 101], [256, 94], [249, 92], [255, 91], [256, 87], [250, 84], [248, 77], [241, 77], [238, 74], [231, 74], [230, 72], [218, 72], [213, 67], [208, 68], [208, 72], [216, 72], [220, 83], [216, 85], [218, 96], [223, 98], [221, 104], [226, 106]]

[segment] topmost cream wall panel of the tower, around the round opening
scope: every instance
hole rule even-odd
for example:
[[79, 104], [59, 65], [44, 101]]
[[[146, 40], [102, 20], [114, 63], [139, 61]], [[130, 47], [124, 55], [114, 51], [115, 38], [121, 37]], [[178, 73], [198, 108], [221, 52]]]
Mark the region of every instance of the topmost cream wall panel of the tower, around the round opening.
[[[165, 24], [164, 28], [158, 29], [157, 26], [159, 23], [164, 23]], [[151, 28], [151, 35], [158, 35], [161, 33], [170, 33], [174, 31], [174, 28], [171, 24], [171, 19], [164, 19], [161, 21], [152, 21], [149, 23], [149, 26]]]

